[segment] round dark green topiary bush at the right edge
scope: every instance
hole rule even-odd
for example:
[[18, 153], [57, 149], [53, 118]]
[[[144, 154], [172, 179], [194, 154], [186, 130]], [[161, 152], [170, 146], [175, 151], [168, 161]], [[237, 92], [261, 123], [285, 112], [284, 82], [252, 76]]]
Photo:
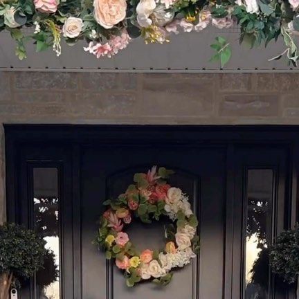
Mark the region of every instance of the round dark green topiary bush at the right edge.
[[296, 282], [299, 275], [299, 225], [282, 232], [271, 248], [270, 264], [273, 272], [289, 284]]

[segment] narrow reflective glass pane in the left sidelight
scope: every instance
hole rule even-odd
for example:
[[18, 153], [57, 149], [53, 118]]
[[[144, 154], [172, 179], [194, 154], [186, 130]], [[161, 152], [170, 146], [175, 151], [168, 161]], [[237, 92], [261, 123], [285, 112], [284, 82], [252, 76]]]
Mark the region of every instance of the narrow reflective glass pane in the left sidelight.
[[33, 169], [35, 230], [46, 241], [44, 269], [36, 275], [37, 299], [60, 298], [60, 210], [58, 172], [54, 167]]

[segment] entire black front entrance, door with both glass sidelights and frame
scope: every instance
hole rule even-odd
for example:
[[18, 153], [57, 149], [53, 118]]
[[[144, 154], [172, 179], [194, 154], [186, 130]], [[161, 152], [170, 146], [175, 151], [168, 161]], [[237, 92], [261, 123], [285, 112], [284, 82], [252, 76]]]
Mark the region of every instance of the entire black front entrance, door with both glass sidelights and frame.
[[[297, 132], [243, 128], [6, 127], [8, 219], [37, 230], [54, 253], [19, 298], [295, 298], [262, 259], [296, 219], [295, 140]], [[92, 243], [103, 201], [153, 165], [174, 170], [170, 184], [192, 201], [200, 254], [166, 287], [128, 288]], [[136, 221], [127, 233], [143, 250], [161, 248], [163, 231]]]

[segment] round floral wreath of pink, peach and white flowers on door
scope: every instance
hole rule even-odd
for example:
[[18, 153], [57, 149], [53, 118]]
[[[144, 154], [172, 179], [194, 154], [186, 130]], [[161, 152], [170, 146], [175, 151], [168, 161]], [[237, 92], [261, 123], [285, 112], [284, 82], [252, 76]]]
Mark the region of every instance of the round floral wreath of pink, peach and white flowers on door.
[[[109, 208], [100, 217], [96, 244], [105, 250], [107, 260], [114, 258], [118, 269], [124, 270], [128, 287], [143, 280], [166, 285], [173, 269], [189, 264], [199, 253], [198, 221], [188, 196], [165, 181], [173, 173], [165, 167], [157, 172], [156, 166], [147, 174], [137, 173], [134, 184], [124, 194], [104, 202]], [[163, 215], [176, 224], [165, 228], [167, 242], [163, 250], [146, 249], [140, 253], [123, 228], [133, 219], [150, 224]]]

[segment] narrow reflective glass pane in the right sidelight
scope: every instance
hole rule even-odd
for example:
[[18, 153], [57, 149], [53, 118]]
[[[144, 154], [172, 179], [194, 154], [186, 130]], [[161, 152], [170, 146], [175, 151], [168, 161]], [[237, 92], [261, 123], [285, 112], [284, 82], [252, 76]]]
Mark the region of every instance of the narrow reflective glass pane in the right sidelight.
[[245, 244], [245, 298], [269, 298], [273, 171], [248, 170]]

